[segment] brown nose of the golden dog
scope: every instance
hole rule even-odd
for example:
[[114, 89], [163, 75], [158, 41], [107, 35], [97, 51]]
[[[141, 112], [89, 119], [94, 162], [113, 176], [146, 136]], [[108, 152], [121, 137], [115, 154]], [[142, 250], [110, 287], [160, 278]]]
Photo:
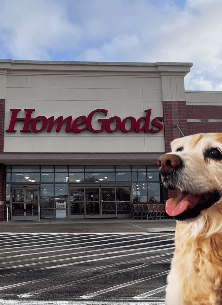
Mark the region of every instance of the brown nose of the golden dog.
[[175, 167], [181, 164], [181, 158], [177, 155], [165, 154], [157, 161], [159, 166], [159, 173], [163, 175], [171, 174]]

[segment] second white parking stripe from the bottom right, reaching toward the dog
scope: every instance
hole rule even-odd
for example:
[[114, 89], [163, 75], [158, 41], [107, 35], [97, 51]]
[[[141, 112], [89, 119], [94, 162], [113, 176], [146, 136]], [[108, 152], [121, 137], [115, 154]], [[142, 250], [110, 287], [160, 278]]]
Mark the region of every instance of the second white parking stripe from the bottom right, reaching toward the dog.
[[102, 289], [102, 290], [98, 290], [98, 291], [88, 293], [88, 294], [86, 294], [84, 296], [80, 296], [80, 297], [83, 298], [83, 299], [89, 299], [89, 298], [92, 298], [92, 297], [95, 297], [95, 296], [98, 296], [98, 295], [101, 295], [101, 294], [104, 294], [104, 293], [107, 293], [107, 292], [110, 292], [110, 291], [113, 291], [113, 290], [121, 289], [121, 288], [130, 286], [130, 285], [134, 285], [134, 284], [138, 284], [138, 283], [145, 282], [145, 281], [148, 281], [148, 280], [152, 280], [153, 278], [157, 278], [159, 276], [162, 276], [162, 275], [165, 275], [165, 274], [168, 274], [168, 273], [170, 273], [170, 270], [163, 271], [163, 272], [157, 273], [155, 275], [150, 275], [150, 276], [147, 276], [145, 278], [140, 278], [140, 279], [135, 280], [135, 281], [131, 281], [131, 282], [123, 283], [123, 284], [120, 284], [120, 285], [115, 285], [115, 286], [112, 286], [112, 287], [109, 287], [109, 288], [105, 288], [105, 289]]

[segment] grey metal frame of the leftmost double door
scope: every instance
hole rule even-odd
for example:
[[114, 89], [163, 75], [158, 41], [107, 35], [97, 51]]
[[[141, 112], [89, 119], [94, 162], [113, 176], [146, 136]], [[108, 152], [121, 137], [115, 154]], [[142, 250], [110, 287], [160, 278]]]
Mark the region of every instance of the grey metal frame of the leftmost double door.
[[[13, 200], [12, 200], [12, 193], [13, 193], [13, 189], [23, 189], [24, 188], [24, 215], [18, 215], [18, 216], [15, 216], [12, 214], [13, 212]], [[12, 185], [11, 186], [11, 220], [38, 220], [38, 215], [26, 215], [26, 192], [28, 189], [30, 188], [36, 188], [38, 189], [38, 213], [39, 213], [39, 200], [40, 200], [40, 193], [39, 193], [39, 190], [40, 190], [40, 187], [39, 185]]]

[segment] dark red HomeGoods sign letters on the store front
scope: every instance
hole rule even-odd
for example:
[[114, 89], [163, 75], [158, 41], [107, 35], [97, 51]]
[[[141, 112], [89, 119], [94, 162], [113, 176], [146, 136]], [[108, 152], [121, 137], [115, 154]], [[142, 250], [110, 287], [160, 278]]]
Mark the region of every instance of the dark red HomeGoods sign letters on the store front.
[[[88, 117], [81, 115], [77, 118], [69, 116], [63, 119], [63, 116], [55, 118], [52, 117], [45, 117], [45, 116], [38, 116], [35, 118], [31, 118], [33, 115], [35, 109], [24, 109], [26, 111], [25, 117], [17, 117], [18, 113], [21, 111], [21, 109], [10, 109], [12, 111], [11, 120], [9, 123], [9, 128], [5, 131], [7, 132], [16, 132], [16, 122], [23, 122], [23, 129], [21, 129], [21, 132], [41, 132], [45, 129], [47, 129], [48, 132], [52, 131], [52, 128], [55, 125], [56, 132], [61, 131], [61, 127], [63, 124], [66, 126], [65, 131], [70, 132], [73, 131], [74, 133], [80, 133], [84, 130], [89, 130], [91, 132], [103, 132], [106, 130], [107, 132], [116, 132], [117, 130], [121, 130], [122, 132], [159, 132], [163, 129], [163, 117], [155, 117], [151, 121], [151, 125], [153, 127], [149, 128], [150, 123], [150, 117], [151, 117], [151, 111], [152, 109], [145, 109], [144, 112], [146, 113], [144, 117], [140, 117], [136, 119], [135, 117], [125, 117], [123, 120], [120, 119], [120, 117], [110, 117], [110, 118], [104, 118], [108, 114], [108, 110], [106, 109], [95, 109], [91, 113], [89, 113]], [[92, 126], [93, 122], [93, 116], [95, 113], [100, 113], [101, 118], [97, 119], [98, 122], [101, 122], [100, 129], [94, 129]], [[128, 126], [128, 129], [126, 127], [126, 123], [131, 122]], [[37, 124], [38, 123], [38, 124]], [[38, 125], [38, 129], [37, 129]], [[129, 128], [130, 127], [130, 128]]]

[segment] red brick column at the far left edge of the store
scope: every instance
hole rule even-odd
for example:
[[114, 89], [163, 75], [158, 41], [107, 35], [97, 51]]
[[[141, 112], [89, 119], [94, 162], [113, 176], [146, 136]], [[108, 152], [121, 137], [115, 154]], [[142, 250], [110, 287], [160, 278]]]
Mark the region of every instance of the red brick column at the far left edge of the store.
[[[4, 151], [5, 99], [0, 99], [0, 153]], [[0, 221], [4, 210], [5, 167], [0, 163]]]

